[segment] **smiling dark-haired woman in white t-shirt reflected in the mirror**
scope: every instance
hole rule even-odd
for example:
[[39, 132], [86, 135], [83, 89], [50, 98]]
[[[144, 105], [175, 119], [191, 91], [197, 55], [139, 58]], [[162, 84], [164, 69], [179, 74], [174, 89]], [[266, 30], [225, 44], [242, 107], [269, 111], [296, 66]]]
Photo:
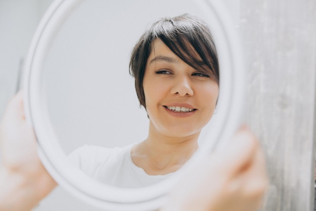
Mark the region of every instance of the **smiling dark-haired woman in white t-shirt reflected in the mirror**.
[[125, 188], [165, 179], [197, 150], [219, 95], [217, 52], [207, 25], [189, 14], [155, 22], [134, 47], [130, 73], [149, 118], [148, 137], [125, 148], [84, 146], [70, 155], [87, 175]]

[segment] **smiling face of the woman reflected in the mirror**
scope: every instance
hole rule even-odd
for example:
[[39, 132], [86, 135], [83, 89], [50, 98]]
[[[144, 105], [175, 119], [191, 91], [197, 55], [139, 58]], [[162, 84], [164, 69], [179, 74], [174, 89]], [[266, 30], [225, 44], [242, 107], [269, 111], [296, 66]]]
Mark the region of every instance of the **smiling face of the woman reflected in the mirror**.
[[182, 61], [161, 39], [151, 48], [143, 78], [150, 130], [170, 137], [198, 134], [214, 113], [218, 83]]

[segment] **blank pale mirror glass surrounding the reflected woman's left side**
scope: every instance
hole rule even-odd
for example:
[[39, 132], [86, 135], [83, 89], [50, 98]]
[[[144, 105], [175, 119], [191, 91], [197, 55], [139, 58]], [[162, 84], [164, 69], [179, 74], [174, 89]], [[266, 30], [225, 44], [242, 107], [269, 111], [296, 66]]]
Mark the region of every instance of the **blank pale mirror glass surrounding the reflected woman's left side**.
[[[168, 7], [166, 7], [168, 5]], [[140, 9], [141, 6], [141, 9]], [[66, 154], [143, 141], [149, 120], [129, 74], [132, 49], [154, 21], [189, 13], [192, 1], [84, 1], [61, 25], [43, 62], [49, 117]], [[157, 87], [159, 89], [159, 87]]]

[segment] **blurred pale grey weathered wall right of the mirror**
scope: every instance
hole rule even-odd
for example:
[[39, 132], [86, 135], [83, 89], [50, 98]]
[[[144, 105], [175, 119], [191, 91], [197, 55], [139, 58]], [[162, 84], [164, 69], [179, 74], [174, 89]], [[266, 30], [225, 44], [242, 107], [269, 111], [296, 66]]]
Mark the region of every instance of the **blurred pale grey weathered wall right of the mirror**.
[[247, 123], [265, 147], [270, 188], [260, 210], [313, 210], [316, 2], [241, 0]]

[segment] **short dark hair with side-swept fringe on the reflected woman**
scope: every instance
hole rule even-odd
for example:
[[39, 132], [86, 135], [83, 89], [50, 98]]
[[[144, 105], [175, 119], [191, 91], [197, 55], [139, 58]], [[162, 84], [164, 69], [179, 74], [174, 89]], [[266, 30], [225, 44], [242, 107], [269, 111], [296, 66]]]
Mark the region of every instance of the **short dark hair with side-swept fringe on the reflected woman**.
[[146, 108], [146, 104], [143, 77], [151, 44], [156, 38], [161, 39], [185, 63], [214, 78], [219, 83], [217, 51], [206, 23], [190, 14], [162, 18], [154, 22], [140, 37], [132, 51], [129, 64], [129, 72], [135, 78], [139, 103], [144, 108]]

